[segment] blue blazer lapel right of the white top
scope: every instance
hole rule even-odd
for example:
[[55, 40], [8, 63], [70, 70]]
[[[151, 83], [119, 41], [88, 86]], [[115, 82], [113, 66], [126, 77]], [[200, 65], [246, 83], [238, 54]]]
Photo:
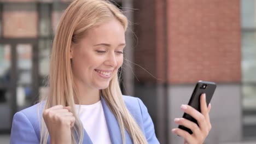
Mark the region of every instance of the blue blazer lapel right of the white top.
[[[115, 118], [114, 114], [110, 111], [103, 97], [101, 97], [101, 103], [102, 103], [104, 115], [106, 118], [106, 122], [108, 125], [109, 136], [112, 143], [113, 144], [123, 143], [117, 118]], [[125, 130], [125, 141], [126, 141], [126, 144], [132, 143], [131, 137], [126, 130]]]

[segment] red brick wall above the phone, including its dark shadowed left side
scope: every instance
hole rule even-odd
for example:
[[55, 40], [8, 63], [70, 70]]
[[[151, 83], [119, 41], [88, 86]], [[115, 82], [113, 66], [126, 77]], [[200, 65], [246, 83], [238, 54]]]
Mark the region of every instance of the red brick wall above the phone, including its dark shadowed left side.
[[142, 0], [134, 8], [135, 63], [161, 79], [135, 67], [140, 82], [240, 82], [239, 0]]

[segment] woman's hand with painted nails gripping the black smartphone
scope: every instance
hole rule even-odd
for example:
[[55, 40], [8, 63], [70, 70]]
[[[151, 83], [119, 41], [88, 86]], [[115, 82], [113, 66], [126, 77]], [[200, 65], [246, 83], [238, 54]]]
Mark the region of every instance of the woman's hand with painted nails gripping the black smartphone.
[[181, 109], [188, 113], [190, 116], [194, 117], [199, 124], [199, 126], [189, 121], [185, 118], [175, 118], [174, 122], [179, 125], [183, 125], [184, 127], [187, 127], [193, 131], [193, 134], [189, 134], [187, 131], [176, 128], [172, 129], [172, 132], [184, 137], [184, 143], [189, 144], [201, 144], [203, 141], [205, 141], [207, 135], [209, 134], [209, 131], [212, 128], [210, 118], [209, 118], [209, 112], [211, 110], [211, 104], [206, 104], [206, 95], [202, 94], [200, 98], [200, 106], [201, 106], [201, 113], [197, 110], [195, 110], [193, 107], [189, 105], [182, 105]]

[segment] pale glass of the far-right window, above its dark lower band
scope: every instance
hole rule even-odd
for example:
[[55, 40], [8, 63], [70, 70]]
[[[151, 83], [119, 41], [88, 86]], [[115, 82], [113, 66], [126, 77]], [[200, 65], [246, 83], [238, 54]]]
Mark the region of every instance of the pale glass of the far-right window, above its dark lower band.
[[241, 2], [243, 107], [256, 110], [256, 0]]

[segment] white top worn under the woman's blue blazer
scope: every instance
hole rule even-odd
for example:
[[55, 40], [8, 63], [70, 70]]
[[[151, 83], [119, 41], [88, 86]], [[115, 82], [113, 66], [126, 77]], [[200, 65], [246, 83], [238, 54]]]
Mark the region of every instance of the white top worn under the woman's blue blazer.
[[92, 105], [75, 105], [75, 109], [92, 143], [111, 143], [101, 100]]

